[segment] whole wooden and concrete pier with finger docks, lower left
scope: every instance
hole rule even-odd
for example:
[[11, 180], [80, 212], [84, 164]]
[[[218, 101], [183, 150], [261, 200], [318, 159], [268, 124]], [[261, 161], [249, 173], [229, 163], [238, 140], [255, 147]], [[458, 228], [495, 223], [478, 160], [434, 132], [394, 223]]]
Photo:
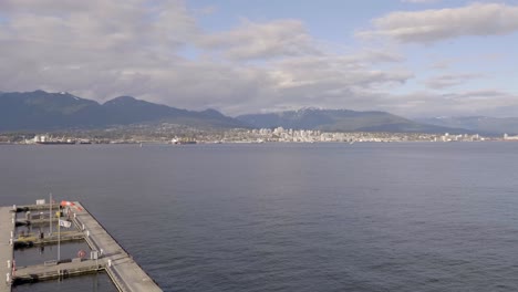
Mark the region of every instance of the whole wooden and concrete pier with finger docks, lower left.
[[[33, 234], [13, 238], [18, 225], [38, 223], [44, 225], [50, 218], [27, 218], [30, 220], [17, 220], [15, 212], [49, 211], [50, 205], [33, 205], [21, 207], [0, 207], [0, 267], [2, 268], [4, 282], [0, 292], [11, 291], [11, 285], [27, 282], [38, 282], [52, 279], [62, 279], [87, 273], [105, 271], [120, 291], [162, 291], [153, 279], [133, 260], [121, 244], [106, 231], [106, 229], [81, 205], [71, 202], [70, 221], [77, 231], [60, 232], [59, 241], [85, 240], [91, 248], [89, 259], [84, 254], [77, 254], [74, 259], [46, 261], [41, 264], [12, 268], [13, 250], [15, 247], [37, 244], [54, 244], [58, 234], [41, 237]], [[58, 208], [58, 206], [55, 207]], [[52, 216], [53, 210], [49, 211]], [[33, 222], [30, 222], [33, 220]], [[58, 218], [55, 219], [58, 223]], [[3, 240], [10, 239], [10, 240]], [[15, 259], [14, 259], [15, 260]]]

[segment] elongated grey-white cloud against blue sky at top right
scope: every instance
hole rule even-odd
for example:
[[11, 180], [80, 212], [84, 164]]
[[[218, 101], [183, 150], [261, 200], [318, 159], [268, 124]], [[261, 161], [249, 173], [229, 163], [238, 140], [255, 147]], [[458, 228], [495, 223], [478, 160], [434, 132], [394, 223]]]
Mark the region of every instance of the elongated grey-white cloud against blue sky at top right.
[[387, 36], [404, 43], [433, 43], [466, 35], [499, 35], [518, 31], [518, 7], [473, 3], [463, 8], [393, 12], [373, 20], [360, 38]]

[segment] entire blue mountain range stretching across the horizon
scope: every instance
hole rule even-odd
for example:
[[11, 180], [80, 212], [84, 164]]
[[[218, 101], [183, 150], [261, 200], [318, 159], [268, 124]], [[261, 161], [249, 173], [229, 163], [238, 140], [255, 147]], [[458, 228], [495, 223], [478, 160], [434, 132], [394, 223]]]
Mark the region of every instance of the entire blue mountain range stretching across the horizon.
[[[460, 122], [459, 122], [460, 121]], [[114, 125], [167, 122], [210, 128], [320, 129], [324, 132], [392, 133], [518, 133], [518, 118], [412, 121], [386, 112], [302, 108], [268, 114], [226, 116], [215, 109], [201, 112], [120, 96], [100, 104], [66, 92], [0, 92], [0, 132], [105, 128]], [[498, 122], [499, 121], [499, 122]], [[500, 123], [501, 122], [501, 123]]]

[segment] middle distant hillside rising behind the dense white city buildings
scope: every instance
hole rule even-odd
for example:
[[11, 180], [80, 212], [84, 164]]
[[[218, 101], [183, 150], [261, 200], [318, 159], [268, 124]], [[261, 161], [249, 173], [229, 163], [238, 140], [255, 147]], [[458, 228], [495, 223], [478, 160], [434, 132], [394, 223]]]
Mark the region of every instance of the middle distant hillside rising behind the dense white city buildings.
[[293, 129], [320, 129], [328, 132], [393, 132], [393, 133], [469, 133], [419, 124], [385, 112], [355, 112], [349, 109], [304, 108], [270, 114], [250, 114], [237, 119], [255, 127], [284, 127]]

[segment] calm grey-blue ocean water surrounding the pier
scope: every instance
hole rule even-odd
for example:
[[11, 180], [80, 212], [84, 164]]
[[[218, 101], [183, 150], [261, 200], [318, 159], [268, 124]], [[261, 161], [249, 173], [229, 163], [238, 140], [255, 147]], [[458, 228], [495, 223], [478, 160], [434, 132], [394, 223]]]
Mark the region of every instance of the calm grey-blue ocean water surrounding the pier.
[[[517, 161], [518, 143], [0, 146], [0, 204], [81, 200], [165, 291], [518, 291]], [[68, 281], [17, 291], [113, 291]]]

